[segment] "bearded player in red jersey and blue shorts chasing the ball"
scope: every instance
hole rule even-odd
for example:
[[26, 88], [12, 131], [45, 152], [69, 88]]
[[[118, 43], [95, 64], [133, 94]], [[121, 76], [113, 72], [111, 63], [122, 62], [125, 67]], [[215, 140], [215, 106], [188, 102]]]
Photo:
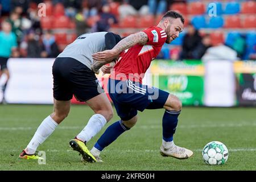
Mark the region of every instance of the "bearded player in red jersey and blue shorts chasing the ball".
[[183, 24], [182, 15], [168, 11], [157, 26], [127, 36], [111, 50], [94, 53], [94, 71], [102, 64], [119, 57], [109, 77], [108, 92], [121, 119], [106, 129], [90, 151], [98, 162], [101, 161], [100, 152], [133, 127], [137, 122], [137, 111], [144, 109], [166, 109], [162, 120], [163, 140], [160, 154], [177, 159], [192, 156], [191, 150], [176, 146], [173, 140], [182, 106], [179, 98], [142, 84], [142, 78], [151, 61], [159, 54], [164, 43], [171, 43], [179, 36], [183, 31]]

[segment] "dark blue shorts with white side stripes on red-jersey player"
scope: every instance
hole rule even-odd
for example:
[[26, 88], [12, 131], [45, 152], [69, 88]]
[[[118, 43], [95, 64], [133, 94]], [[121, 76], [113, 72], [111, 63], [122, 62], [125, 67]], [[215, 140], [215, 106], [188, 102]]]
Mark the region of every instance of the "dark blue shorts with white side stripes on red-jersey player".
[[117, 114], [123, 121], [133, 118], [138, 110], [162, 109], [169, 96], [168, 92], [139, 82], [111, 78], [108, 82], [108, 92]]

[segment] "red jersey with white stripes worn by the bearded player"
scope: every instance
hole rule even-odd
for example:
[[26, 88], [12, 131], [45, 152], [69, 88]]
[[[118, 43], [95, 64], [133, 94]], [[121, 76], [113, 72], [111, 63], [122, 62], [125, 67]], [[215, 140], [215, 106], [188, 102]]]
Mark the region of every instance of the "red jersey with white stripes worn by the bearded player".
[[137, 44], [123, 51], [110, 78], [142, 82], [144, 73], [150, 67], [151, 61], [158, 56], [167, 38], [166, 32], [159, 27], [146, 28], [143, 32], [147, 34], [147, 44]]

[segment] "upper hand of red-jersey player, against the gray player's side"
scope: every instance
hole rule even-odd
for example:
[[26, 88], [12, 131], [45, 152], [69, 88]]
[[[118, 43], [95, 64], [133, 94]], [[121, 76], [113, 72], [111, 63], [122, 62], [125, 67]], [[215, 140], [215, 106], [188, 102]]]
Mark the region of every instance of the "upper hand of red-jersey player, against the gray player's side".
[[106, 61], [110, 62], [118, 57], [119, 53], [114, 50], [106, 50], [102, 52], [96, 52], [92, 55], [93, 59], [96, 61]]

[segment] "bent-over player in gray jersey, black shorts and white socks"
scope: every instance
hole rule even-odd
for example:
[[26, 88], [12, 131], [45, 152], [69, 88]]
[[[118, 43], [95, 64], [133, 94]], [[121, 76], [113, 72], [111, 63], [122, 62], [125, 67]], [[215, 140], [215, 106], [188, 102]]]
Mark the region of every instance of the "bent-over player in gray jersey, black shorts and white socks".
[[113, 109], [91, 69], [92, 55], [112, 49], [120, 40], [121, 37], [112, 32], [83, 34], [56, 57], [52, 66], [53, 113], [44, 119], [19, 158], [40, 159], [36, 155], [36, 149], [68, 116], [74, 95], [77, 100], [86, 102], [95, 114], [69, 144], [73, 150], [79, 151], [86, 161], [96, 162], [96, 158], [90, 154], [85, 144], [102, 129], [106, 122], [110, 121], [113, 117]]

